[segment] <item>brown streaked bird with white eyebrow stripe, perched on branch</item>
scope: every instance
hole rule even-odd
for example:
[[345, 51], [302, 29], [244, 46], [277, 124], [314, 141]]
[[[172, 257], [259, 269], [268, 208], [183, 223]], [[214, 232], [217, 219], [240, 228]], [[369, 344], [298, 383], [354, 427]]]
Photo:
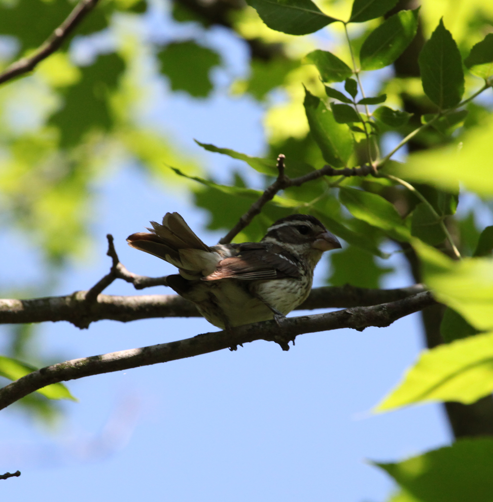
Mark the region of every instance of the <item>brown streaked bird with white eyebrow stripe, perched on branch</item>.
[[204, 244], [178, 213], [151, 224], [151, 233], [130, 235], [129, 245], [177, 267], [180, 273], [168, 276], [168, 285], [223, 329], [280, 322], [308, 297], [322, 253], [341, 247], [307, 214], [277, 220], [260, 242], [214, 246]]

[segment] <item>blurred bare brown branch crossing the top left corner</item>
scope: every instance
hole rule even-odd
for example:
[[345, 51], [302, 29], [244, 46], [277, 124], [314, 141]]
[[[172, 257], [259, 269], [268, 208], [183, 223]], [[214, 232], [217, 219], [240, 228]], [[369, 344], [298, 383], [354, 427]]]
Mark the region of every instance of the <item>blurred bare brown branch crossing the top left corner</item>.
[[53, 54], [67, 37], [80, 24], [85, 16], [94, 9], [99, 0], [81, 0], [67, 19], [48, 37], [48, 39], [29, 57], [25, 57], [11, 64], [0, 74], [0, 84], [32, 71], [38, 63]]

